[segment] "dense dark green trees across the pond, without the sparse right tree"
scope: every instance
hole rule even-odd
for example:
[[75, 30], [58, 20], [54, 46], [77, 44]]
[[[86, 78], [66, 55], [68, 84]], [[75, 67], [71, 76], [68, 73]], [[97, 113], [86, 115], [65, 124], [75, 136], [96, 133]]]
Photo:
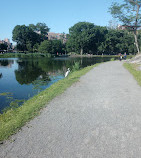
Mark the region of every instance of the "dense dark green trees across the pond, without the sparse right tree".
[[[90, 22], [78, 22], [69, 29], [67, 42], [48, 40], [49, 27], [45, 23], [17, 25], [13, 29], [12, 39], [19, 51], [47, 53], [49, 56], [58, 53], [116, 55], [118, 53], [136, 54], [133, 33], [129, 30], [110, 29]], [[141, 44], [141, 32], [138, 31]]]

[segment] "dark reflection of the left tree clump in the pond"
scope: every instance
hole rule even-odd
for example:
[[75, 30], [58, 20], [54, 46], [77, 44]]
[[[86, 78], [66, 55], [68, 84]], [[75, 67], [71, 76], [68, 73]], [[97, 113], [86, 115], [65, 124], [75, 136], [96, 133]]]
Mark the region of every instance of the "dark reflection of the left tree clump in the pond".
[[17, 60], [18, 69], [15, 70], [16, 80], [21, 85], [33, 85], [33, 89], [41, 90], [47, 86], [52, 76], [63, 75], [66, 68], [65, 62], [58, 62], [48, 59]]

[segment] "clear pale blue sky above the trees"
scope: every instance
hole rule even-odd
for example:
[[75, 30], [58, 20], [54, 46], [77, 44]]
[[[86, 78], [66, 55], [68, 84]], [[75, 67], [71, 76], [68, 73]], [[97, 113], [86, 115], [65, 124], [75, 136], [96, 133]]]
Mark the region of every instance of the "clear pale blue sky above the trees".
[[69, 33], [77, 22], [108, 26], [112, 2], [123, 0], [0, 0], [0, 40], [12, 41], [16, 25], [45, 23], [50, 32]]

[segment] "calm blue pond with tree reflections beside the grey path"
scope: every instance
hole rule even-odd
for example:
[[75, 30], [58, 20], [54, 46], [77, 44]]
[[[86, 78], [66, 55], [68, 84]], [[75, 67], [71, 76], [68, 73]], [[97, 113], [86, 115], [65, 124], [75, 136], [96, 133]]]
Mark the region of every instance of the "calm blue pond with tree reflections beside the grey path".
[[68, 58], [1, 58], [0, 59], [0, 113], [12, 104], [38, 94], [64, 78], [67, 68], [75, 62], [80, 67], [110, 60], [110, 57]]

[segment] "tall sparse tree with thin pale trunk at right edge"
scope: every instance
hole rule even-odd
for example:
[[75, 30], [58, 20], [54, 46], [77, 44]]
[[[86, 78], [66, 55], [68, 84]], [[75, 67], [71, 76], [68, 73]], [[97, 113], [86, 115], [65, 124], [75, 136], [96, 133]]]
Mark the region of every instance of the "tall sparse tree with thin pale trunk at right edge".
[[122, 24], [129, 26], [133, 30], [138, 53], [140, 51], [137, 40], [137, 28], [141, 24], [140, 6], [141, 0], [124, 0], [123, 4], [113, 3], [109, 8], [114, 18], [117, 18]]

